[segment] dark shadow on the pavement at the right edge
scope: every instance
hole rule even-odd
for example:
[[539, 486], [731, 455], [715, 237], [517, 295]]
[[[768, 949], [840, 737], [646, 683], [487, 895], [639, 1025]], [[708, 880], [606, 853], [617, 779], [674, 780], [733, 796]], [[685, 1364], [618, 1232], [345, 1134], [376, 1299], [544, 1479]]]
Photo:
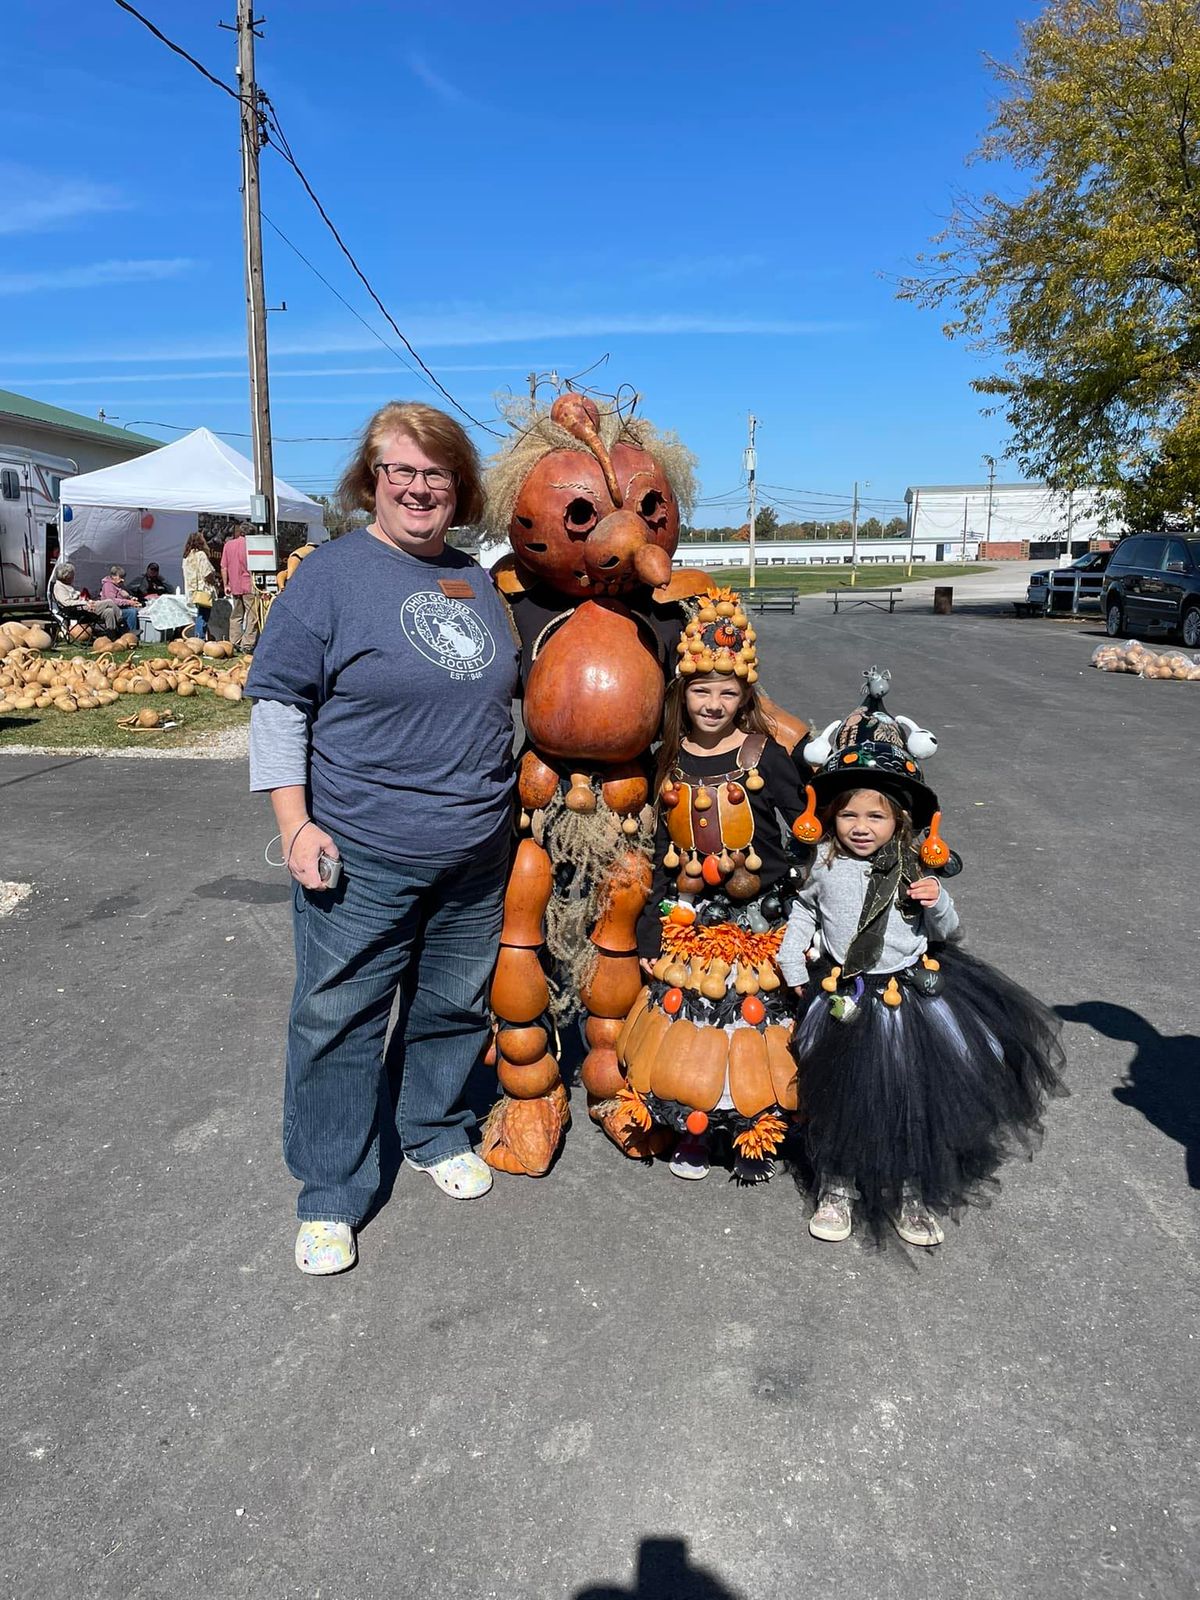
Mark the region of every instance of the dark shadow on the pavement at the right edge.
[[1083, 1022], [1106, 1038], [1138, 1046], [1125, 1083], [1112, 1091], [1112, 1098], [1139, 1110], [1155, 1128], [1182, 1144], [1187, 1181], [1192, 1189], [1200, 1189], [1200, 1038], [1195, 1034], [1160, 1034], [1138, 1011], [1109, 1000], [1054, 1010], [1064, 1022]]

